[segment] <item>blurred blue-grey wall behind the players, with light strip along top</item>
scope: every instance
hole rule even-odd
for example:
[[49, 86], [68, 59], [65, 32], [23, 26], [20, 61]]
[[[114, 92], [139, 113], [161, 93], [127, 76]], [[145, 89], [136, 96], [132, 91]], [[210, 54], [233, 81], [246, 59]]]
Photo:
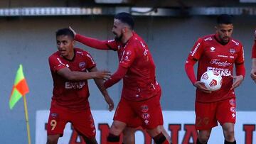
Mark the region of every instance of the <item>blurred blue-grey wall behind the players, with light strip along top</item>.
[[[18, 65], [23, 65], [30, 88], [26, 98], [31, 141], [35, 143], [36, 111], [48, 110], [52, 96], [48, 57], [57, 50], [55, 31], [72, 26], [82, 35], [112, 39], [113, 16], [123, 11], [132, 13], [135, 31], [154, 57], [164, 111], [194, 110], [195, 88], [184, 71], [188, 52], [199, 37], [215, 33], [216, 16], [233, 15], [233, 38], [244, 45], [247, 70], [243, 84], [235, 90], [237, 110], [256, 111], [255, 83], [250, 79], [256, 0], [1, 0], [0, 143], [27, 143], [23, 101], [9, 109]], [[117, 69], [116, 52], [93, 50], [80, 43], [76, 46], [91, 53], [98, 69]], [[91, 109], [107, 110], [94, 82], [89, 83]], [[116, 106], [121, 89], [122, 82], [108, 89]]]

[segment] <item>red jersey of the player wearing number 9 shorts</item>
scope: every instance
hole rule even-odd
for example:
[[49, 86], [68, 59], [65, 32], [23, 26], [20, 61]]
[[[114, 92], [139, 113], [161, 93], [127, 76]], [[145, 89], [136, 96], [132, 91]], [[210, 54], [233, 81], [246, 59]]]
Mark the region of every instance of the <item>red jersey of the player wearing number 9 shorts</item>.
[[58, 70], [68, 67], [71, 71], [87, 72], [96, 66], [90, 53], [75, 48], [73, 60], [67, 60], [60, 56], [60, 52], [55, 52], [49, 57], [50, 72], [53, 77], [53, 97], [52, 104], [65, 106], [68, 109], [87, 109], [89, 89], [87, 80], [69, 81], [57, 74]]

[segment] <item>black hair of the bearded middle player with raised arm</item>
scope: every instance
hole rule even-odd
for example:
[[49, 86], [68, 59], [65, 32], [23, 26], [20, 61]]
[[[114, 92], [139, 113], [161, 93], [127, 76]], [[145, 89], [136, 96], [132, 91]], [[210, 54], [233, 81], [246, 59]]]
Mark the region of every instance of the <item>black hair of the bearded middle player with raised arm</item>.
[[129, 25], [129, 27], [133, 30], [134, 28], [134, 18], [132, 18], [132, 15], [130, 13], [117, 13], [114, 16], [115, 19], [118, 19], [119, 21], [122, 21], [122, 23], [126, 23]]

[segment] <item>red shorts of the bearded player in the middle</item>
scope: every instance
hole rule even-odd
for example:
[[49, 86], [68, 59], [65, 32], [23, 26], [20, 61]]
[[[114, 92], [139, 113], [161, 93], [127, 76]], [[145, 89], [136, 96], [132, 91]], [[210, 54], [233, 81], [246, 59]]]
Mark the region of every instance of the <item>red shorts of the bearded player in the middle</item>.
[[114, 121], [122, 121], [127, 126], [152, 129], [163, 125], [163, 114], [160, 104], [161, 92], [145, 101], [127, 101], [121, 98], [114, 113]]

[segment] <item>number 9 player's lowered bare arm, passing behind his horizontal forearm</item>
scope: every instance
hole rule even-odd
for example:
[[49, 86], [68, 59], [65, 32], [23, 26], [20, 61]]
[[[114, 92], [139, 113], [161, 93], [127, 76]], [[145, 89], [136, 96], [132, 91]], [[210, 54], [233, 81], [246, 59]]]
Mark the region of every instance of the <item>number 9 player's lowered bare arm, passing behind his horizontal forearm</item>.
[[[97, 72], [97, 67], [93, 67], [90, 72]], [[94, 79], [95, 84], [97, 85], [98, 89], [100, 89], [100, 92], [102, 93], [102, 95], [105, 98], [105, 101], [107, 102], [107, 104], [109, 105], [109, 111], [112, 111], [114, 109], [114, 102], [111, 99], [110, 95], [108, 94], [107, 90], [105, 89], [104, 85], [103, 85], [103, 79]]]

